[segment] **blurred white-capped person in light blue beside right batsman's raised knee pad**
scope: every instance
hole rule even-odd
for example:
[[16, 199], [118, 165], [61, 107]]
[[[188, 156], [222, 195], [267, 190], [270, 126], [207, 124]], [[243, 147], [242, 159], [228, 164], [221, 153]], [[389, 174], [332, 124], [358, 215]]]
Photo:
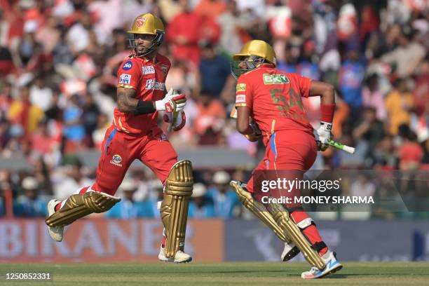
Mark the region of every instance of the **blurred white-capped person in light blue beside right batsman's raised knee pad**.
[[225, 171], [217, 171], [212, 178], [213, 186], [207, 191], [207, 198], [212, 200], [214, 214], [222, 219], [236, 217], [241, 207], [236, 193], [229, 186], [231, 177]]

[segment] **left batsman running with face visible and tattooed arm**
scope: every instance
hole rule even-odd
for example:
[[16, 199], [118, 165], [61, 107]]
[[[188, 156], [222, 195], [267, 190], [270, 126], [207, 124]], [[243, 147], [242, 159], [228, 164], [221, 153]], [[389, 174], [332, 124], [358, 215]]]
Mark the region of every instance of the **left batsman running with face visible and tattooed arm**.
[[166, 93], [165, 78], [170, 69], [167, 57], [157, 53], [163, 42], [163, 22], [147, 13], [135, 18], [128, 33], [132, 55], [118, 69], [118, 107], [102, 143], [95, 184], [84, 186], [67, 200], [50, 200], [46, 219], [51, 238], [61, 241], [64, 226], [93, 212], [106, 212], [121, 198], [115, 195], [130, 164], [138, 159], [164, 184], [164, 198], [158, 205], [164, 237], [158, 258], [176, 263], [191, 261], [184, 253], [189, 198], [193, 189], [190, 161], [177, 161], [177, 154], [161, 128], [158, 111], [172, 130], [186, 121], [185, 95]]

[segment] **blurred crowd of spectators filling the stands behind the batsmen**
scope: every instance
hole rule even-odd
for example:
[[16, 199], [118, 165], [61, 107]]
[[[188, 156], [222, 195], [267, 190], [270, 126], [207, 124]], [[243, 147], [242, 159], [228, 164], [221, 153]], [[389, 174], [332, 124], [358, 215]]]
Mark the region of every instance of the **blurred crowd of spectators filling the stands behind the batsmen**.
[[[217, 145], [259, 158], [260, 143], [247, 142], [229, 118], [229, 62], [243, 43], [262, 39], [279, 69], [336, 87], [334, 139], [356, 153], [328, 149], [313, 168], [429, 169], [428, 1], [0, 0], [0, 157], [32, 167], [0, 170], [0, 215], [6, 189], [15, 214], [32, 217], [46, 215], [46, 198], [93, 182], [95, 170], [72, 154], [100, 148], [116, 71], [130, 55], [126, 31], [147, 12], [165, 23], [167, 88], [189, 95], [186, 127], [169, 134], [175, 147]], [[318, 128], [320, 101], [304, 100]], [[197, 170], [191, 217], [245, 216], [225, 182], [248, 172], [227, 171]], [[151, 176], [130, 172], [122, 191], [132, 204], [108, 215], [156, 216], [160, 186]]]

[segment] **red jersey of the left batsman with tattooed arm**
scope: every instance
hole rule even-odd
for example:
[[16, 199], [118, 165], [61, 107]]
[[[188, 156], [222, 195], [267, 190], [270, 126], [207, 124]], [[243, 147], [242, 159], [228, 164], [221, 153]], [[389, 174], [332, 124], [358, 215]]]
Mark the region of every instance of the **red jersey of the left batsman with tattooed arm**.
[[[145, 57], [130, 56], [118, 69], [118, 86], [137, 91], [136, 100], [162, 100], [165, 96], [165, 79], [171, 63], [167, 57], [156, 55], [156, 62]], [[134, 115], [114, 110], [114, 125], [117, 130], [127, 133], [146, 133], [156, 126], [158, 112]]]

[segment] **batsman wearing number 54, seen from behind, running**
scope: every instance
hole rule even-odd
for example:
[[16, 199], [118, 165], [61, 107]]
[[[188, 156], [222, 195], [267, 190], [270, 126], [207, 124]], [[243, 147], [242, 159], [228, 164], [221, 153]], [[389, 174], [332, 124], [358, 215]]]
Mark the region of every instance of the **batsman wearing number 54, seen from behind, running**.
[[[231, 71], [236, 86], [237, 130], [266, 146], [264, 159], [255, 170], [308, 170], [318, 149], [325, 150], [331, 138], [334, 117], [334, 88], [298, 74], [275, 69], [275, 53], [264, 41], [249, 41], [233, 55]], [[308, 121], [301, 97], [320, 96], [322, 118], [318, 141]], [[285, 242], [282, 260], [299, 252], [311, 264], [301, 274], [304, 279], [321, 278], [342, 266], [320, 238], [315, 222], [301, 205], [264, 205], [261, 190], [253, 189], [254, 177], [247, 184], [232, 181], [240, 201]]]

